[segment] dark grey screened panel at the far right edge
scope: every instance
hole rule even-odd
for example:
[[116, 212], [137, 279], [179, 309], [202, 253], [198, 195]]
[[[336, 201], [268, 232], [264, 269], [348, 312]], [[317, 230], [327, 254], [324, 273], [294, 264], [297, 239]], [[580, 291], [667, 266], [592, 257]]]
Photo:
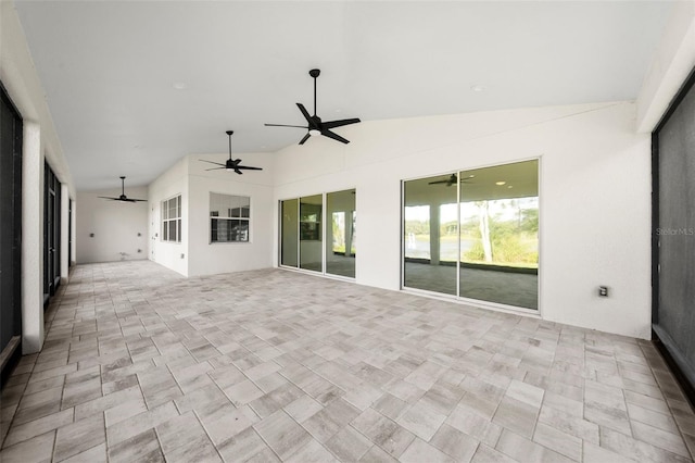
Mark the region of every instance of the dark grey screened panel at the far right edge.
[[655, 331], [695, 383], [695, 87], [688, 79], [656, 133]]

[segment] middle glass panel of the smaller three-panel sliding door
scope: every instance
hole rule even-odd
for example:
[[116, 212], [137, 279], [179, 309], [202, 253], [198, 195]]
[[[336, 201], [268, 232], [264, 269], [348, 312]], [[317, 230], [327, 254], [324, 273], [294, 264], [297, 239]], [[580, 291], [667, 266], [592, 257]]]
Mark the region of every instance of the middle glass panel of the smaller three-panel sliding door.
[[300, 198], [300, 267], [323, 272], [323, 195]]

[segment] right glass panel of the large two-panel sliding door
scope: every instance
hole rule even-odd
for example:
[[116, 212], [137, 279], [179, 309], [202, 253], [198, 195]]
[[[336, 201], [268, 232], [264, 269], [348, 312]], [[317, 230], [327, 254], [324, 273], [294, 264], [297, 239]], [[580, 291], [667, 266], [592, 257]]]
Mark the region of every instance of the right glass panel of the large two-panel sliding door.
[[538, 160], [463, 171], [459, 296], [538, 309]]

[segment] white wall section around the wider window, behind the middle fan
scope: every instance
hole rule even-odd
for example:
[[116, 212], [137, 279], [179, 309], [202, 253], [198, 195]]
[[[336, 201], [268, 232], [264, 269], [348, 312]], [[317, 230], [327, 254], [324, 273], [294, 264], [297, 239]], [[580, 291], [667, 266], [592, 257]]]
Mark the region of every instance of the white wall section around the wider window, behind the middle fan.
[[[206, 154], [204, 159], [224, 162], [228, 154]], [[189, 268], [188, 275], [210, 275], [273, 266], [273, 158], [267, 153], [237, 154], [244, 164], [263, 171], [244, 171], [242, 175], [225, 170], [205, 171], [201, 155], [189, 162]], [[247, 161], [249, 160], [249, 161]], [[250, 242], [210, 242], [210, 193], [251, 198]]]

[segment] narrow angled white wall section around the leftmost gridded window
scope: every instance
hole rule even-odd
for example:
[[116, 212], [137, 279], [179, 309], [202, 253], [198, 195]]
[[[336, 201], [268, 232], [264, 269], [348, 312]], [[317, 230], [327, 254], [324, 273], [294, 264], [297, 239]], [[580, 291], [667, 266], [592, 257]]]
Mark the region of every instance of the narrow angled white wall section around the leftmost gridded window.
[[[149, 259], [188, 276], [188, 161], [180, 159], [149, 185], [148, 237]], [[162, 241], [162, 201], [181, 196], [181, 242]], [[81, 214], [83, 212], [80, 212]]]

